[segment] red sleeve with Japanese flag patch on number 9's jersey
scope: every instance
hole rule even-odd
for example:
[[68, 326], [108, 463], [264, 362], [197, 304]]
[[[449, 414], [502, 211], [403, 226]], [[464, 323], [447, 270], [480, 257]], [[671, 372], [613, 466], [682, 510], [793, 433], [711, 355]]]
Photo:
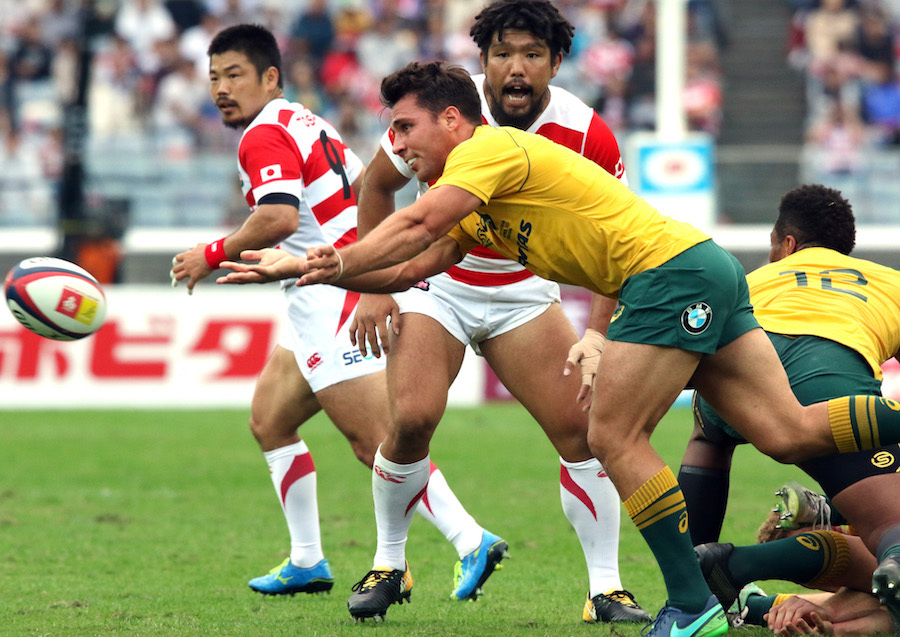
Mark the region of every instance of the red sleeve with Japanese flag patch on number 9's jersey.
[[250, 179], [253, 199], [289, 195], [298, 202], [303, 194], [302, 159], [290, 135], [280, 126], [261, 125], [241, 140], [238, 161]]

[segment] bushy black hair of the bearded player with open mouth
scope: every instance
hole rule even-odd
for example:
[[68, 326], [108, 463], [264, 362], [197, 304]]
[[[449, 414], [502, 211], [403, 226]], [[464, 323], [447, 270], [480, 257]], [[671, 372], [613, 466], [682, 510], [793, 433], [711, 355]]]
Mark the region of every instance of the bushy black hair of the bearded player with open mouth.
[[553, 57], [569, 52], [575, 33], [575, 27], [549, 0], [497, 0], [475, 16], [469, 35], [487, 55], [494, 34], [502, 40], [505, 29], [527, 31], [540, 38], [547, 43]]

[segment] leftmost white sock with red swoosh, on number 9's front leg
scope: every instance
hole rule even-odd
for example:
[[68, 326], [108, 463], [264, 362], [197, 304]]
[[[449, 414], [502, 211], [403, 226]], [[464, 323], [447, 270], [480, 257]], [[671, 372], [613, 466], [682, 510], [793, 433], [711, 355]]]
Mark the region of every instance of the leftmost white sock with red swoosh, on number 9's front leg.
[[291, 535], [291, 562], [300, 568], [315, 566], [325, 555], [319, 532], [316, 467], [312, 455], [302, 440], [263, 455]]

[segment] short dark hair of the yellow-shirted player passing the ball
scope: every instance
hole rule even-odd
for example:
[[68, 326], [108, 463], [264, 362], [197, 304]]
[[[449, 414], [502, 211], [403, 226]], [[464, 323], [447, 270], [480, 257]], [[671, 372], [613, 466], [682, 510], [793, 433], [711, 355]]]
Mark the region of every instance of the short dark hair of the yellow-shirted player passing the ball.
[[480, 125], [481, 98], [463, 67], [442, 61], [410, 62], [381, 81], [381, 103], [393, 108], [407, 95], [432, 115], [455, 106], [469, 122]]

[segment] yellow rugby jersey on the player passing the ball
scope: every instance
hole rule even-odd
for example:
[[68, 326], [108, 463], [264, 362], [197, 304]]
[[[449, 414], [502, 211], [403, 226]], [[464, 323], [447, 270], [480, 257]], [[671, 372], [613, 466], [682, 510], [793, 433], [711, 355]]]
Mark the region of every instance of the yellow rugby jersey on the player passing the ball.
[[450, 232], [463, 254], [488, 246], [538, 276], [606, 296], [709, 238], [594, 162], [516, 128], [476, 128], [433, 188], [446, 185], [485, 202]]

